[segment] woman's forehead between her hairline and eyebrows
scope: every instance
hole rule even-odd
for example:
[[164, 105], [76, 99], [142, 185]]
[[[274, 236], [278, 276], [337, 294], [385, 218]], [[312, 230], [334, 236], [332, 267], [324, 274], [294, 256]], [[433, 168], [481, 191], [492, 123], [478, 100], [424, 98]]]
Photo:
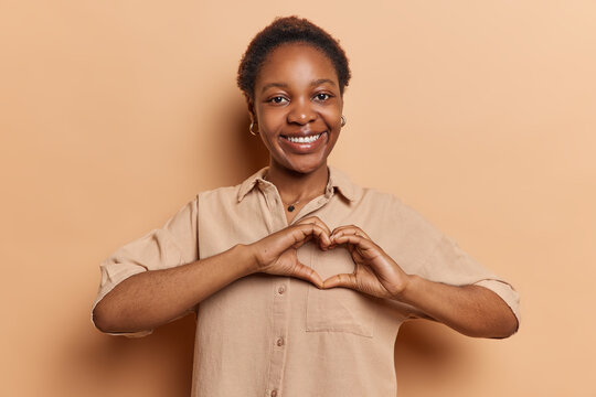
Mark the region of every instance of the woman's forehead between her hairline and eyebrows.
[[331, 79], [338, 75], [331, 60], [319, 49], [307, 43], [281, 44], [273, 50], [258, 72], [255, 87], [275, 83]]

